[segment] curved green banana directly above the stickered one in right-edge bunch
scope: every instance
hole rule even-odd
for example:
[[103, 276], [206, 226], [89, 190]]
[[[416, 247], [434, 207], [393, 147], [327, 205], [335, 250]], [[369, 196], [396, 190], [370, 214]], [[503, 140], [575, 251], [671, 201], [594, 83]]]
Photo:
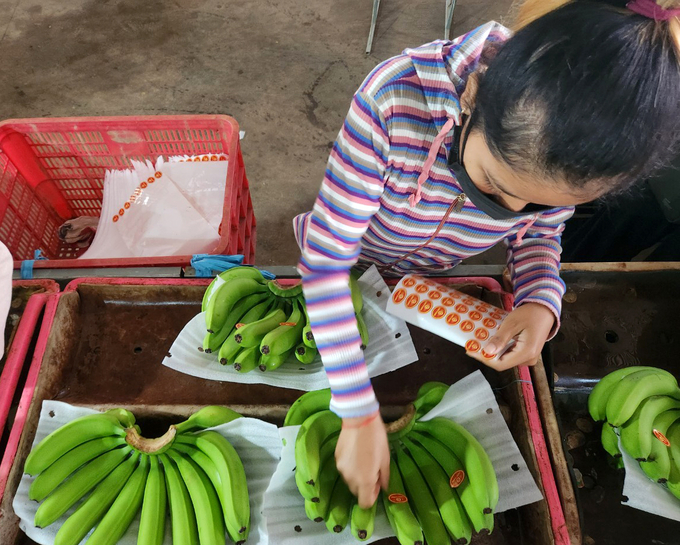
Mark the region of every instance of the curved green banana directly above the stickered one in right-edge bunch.
[[619, 429], [621, 445], [638, 462], [645, 461], [652, 451], [654, 419], [669, 409], [680, 409], [680, 401], [668, 396], [648, 397]]

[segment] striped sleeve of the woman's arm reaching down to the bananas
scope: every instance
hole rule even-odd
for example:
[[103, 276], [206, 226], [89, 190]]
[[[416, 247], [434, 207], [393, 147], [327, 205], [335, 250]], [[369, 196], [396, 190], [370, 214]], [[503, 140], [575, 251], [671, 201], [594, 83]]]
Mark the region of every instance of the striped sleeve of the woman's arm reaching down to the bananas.
[[378, 409], [350, 297], [349, 269], [380, 206], [388, 150], [383, 115], [372, 98], [357, 93], [314, 208], [294, 222], [312, 333], [331, 386], [331, 410], [341, 417]]

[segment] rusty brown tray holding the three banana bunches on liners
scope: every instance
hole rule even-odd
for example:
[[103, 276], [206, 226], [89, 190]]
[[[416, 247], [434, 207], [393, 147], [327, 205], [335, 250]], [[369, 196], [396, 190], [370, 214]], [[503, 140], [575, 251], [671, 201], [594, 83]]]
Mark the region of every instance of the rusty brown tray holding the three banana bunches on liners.
[[[136, 283], [137, 282], [137, 283]], [[38, 423], [41, 401], [57, 399], [103, 408], [124, 406], [139, 415], [145, 434], [162, 432], [180, 415], [206, 404], [225, 404], [242, 414], [280, 424], [301, 392], [266, 385], [220, 383], [180, 374], [160, 364], [182, 327], [200, 310], [205, 280], [91, 279], [60, 294], [26, 425], [0, 504], [0, 542], [31, 543], [18, 529], [12, 499]], [[500, 296], [476, 286], [464, 291], [500, 305]], [[420, 361], [374, 379], [387, 419], [396, 418], [428, 380], [453, 383], [479, 364], [451, 343], [411, 328]], [[485, 372], [510, 429], [536, 478], [537, 469], [516, 370]], [[526, 385], [525, 385], [526, 386]], [[384, 540], [396, 545], [396, 539]], [[499, 514], [478, 545], [554, 543], [545, 500]]]

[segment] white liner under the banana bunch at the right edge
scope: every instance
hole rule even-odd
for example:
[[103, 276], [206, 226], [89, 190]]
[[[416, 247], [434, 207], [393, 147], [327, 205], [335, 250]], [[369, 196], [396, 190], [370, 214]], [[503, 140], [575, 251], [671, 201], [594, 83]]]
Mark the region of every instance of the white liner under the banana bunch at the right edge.
[[[608, 424], [605, 423], [604, 425], [607, 426]], [[618, 431], [617, 428], [617, 435]], [[623, 495], [628, 497], [628, 501], [621, 503], [634, 509], [680, 522], [680, 500], [663, 485], [647, 477], [637, 460], [624, 450], [620, 435], [619, 450], [623, 455], [623, 465], [626, 471], [626, 477], [623, 481]]]

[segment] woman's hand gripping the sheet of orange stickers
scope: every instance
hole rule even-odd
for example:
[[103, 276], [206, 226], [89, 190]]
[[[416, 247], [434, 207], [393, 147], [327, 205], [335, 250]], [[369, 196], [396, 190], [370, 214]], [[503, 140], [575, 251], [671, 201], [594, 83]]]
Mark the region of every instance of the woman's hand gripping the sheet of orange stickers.
[[513, 310], [503, 320], [498, 332], [484, 347], [487, 354], [496, 354], [515, 339], [515, 345], [500, 359], [482, 360], [496, 371], [505, 371], [518, 365], [536, 365], [545, 341], [555, 325], [555, 315], [538, 303], [526, 303]]

